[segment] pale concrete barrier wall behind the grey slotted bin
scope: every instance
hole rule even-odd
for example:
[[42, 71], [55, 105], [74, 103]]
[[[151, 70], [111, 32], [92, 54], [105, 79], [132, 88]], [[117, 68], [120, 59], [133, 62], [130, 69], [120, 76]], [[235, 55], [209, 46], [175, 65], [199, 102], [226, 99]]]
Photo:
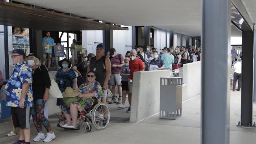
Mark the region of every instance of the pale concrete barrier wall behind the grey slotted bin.
[[[138, 122], [159, 113], [160, 78], [169, 76], [169, 70], [134, 72], [130, 122]], [[200, 61], [183, 65], [183, 82], [182, 102], [200, 95]]]

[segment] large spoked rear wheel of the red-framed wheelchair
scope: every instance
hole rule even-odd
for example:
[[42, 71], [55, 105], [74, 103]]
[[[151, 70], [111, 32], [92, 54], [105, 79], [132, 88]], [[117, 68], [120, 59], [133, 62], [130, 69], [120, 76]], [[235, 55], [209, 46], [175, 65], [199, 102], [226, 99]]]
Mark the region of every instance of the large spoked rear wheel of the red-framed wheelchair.
[[105, 105], [104, 103], [97, 103], [93, 107], [93, 112], [92, 112], [92, 123], [93, 126], [98, 129], [104, 129], [108, 123], [109, 123], [109, 109], [108, 106]]

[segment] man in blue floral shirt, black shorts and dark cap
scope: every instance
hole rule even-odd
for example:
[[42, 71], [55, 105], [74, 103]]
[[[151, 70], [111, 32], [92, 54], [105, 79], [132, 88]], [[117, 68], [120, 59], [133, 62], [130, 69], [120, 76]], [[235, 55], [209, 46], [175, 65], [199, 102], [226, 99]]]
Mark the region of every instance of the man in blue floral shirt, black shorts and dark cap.
[[33, 106], [32, 69], [24, 62], [21, 50], [8, 52], [15, 68], [6, 84], [6, 101], [11, 106], [13, 126], [19, 127], [19, 140], [13, 144], [30, 144], [30, 115]]

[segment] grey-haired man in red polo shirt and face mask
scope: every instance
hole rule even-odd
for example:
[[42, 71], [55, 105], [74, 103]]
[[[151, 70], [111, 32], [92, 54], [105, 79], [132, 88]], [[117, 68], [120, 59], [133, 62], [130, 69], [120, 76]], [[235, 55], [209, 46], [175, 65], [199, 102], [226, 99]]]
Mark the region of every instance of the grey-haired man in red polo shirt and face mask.
[[130, 51], [131, 54], [131, 60], [129, 61], [129, 68], [131, 70], [130, 76], [129, 76], [129, 82], [128, 82], [128, 87], [129, 87], [129, 94], [128, 94], [128, 101], [130, 104], [130, 107], [126, 111], [126, 113], [131, 112], [131, 103], [132, 103], [132, 79], [134, 76], [134, 72], [140, 72], [144, 71], [144, 63], [141, 61], [141, 59], [137, 58], [137, 51], [135, 49], [132, 49]]

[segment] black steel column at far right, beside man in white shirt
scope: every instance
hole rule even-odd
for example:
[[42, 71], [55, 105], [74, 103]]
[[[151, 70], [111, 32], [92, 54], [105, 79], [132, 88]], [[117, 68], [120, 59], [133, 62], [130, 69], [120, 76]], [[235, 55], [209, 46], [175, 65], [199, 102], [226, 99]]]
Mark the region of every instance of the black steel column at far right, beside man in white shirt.
[[242, 32], [241, 126], [252, 125], [254, 33]]

